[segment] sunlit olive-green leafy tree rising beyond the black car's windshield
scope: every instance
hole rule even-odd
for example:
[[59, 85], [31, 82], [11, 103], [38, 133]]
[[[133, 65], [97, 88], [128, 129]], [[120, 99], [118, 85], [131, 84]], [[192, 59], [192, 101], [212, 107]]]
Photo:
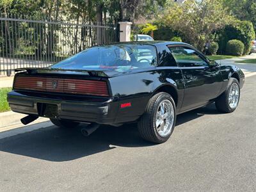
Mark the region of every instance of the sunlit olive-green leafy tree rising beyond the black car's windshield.
[[205, 43], [214, 39], [212, 34], [223, 28], [232, 17], [228, 16], [221, 0], [191, 0], [168, 4], [162, 20], [166, 26], [177, 31], [184, 42], [203, 51]]

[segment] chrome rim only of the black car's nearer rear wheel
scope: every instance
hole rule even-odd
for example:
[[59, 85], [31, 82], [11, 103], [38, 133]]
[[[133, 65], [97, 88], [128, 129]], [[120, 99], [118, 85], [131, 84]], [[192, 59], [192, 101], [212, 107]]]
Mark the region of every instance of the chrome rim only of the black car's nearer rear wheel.
[[156, 112], [156, 129], [160, 136], [168, 136], [172, 131], [174, 122], [174, 109], [170, 100], [163, 100]]

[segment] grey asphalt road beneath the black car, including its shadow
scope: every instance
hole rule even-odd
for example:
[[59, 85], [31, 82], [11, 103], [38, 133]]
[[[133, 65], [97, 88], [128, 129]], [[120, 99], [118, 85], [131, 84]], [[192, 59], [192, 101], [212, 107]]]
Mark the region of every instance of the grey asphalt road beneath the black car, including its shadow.
[[211, 105], [179, 115], [161, 145], [134, 125], [89, 138], [53, 125], [2, 138], [0, 191], [256, 191], [255, 93], [247, 77], [234, 113]]

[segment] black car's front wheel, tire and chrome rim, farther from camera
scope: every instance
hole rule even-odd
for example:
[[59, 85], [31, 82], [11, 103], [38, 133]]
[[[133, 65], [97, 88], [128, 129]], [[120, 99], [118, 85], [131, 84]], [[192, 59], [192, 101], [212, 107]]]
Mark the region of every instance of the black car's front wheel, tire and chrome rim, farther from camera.
[[240, 86], [236, 78], [229, 79], [224, 93], [215, 101], [218, 111], [223, 113], [232, 113], [236, 110], [240, 99]]

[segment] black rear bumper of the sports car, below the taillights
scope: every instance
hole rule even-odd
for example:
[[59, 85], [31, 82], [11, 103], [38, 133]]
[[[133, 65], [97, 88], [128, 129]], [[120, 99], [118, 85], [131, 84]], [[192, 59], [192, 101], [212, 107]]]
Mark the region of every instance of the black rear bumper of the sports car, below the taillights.
[[[109, 99], [105, 102], [77, 102], [73, 100], [45, 99], [29, 97], [18, 92], [8, 93], [8, 102], [12, 111], [48, 118], [63, 118], [77, 122], [95, 122], [97, 124], [115, 124], [118, 101]], [[44, 114], [42, 104], [54, 104], [54, 115]]]

